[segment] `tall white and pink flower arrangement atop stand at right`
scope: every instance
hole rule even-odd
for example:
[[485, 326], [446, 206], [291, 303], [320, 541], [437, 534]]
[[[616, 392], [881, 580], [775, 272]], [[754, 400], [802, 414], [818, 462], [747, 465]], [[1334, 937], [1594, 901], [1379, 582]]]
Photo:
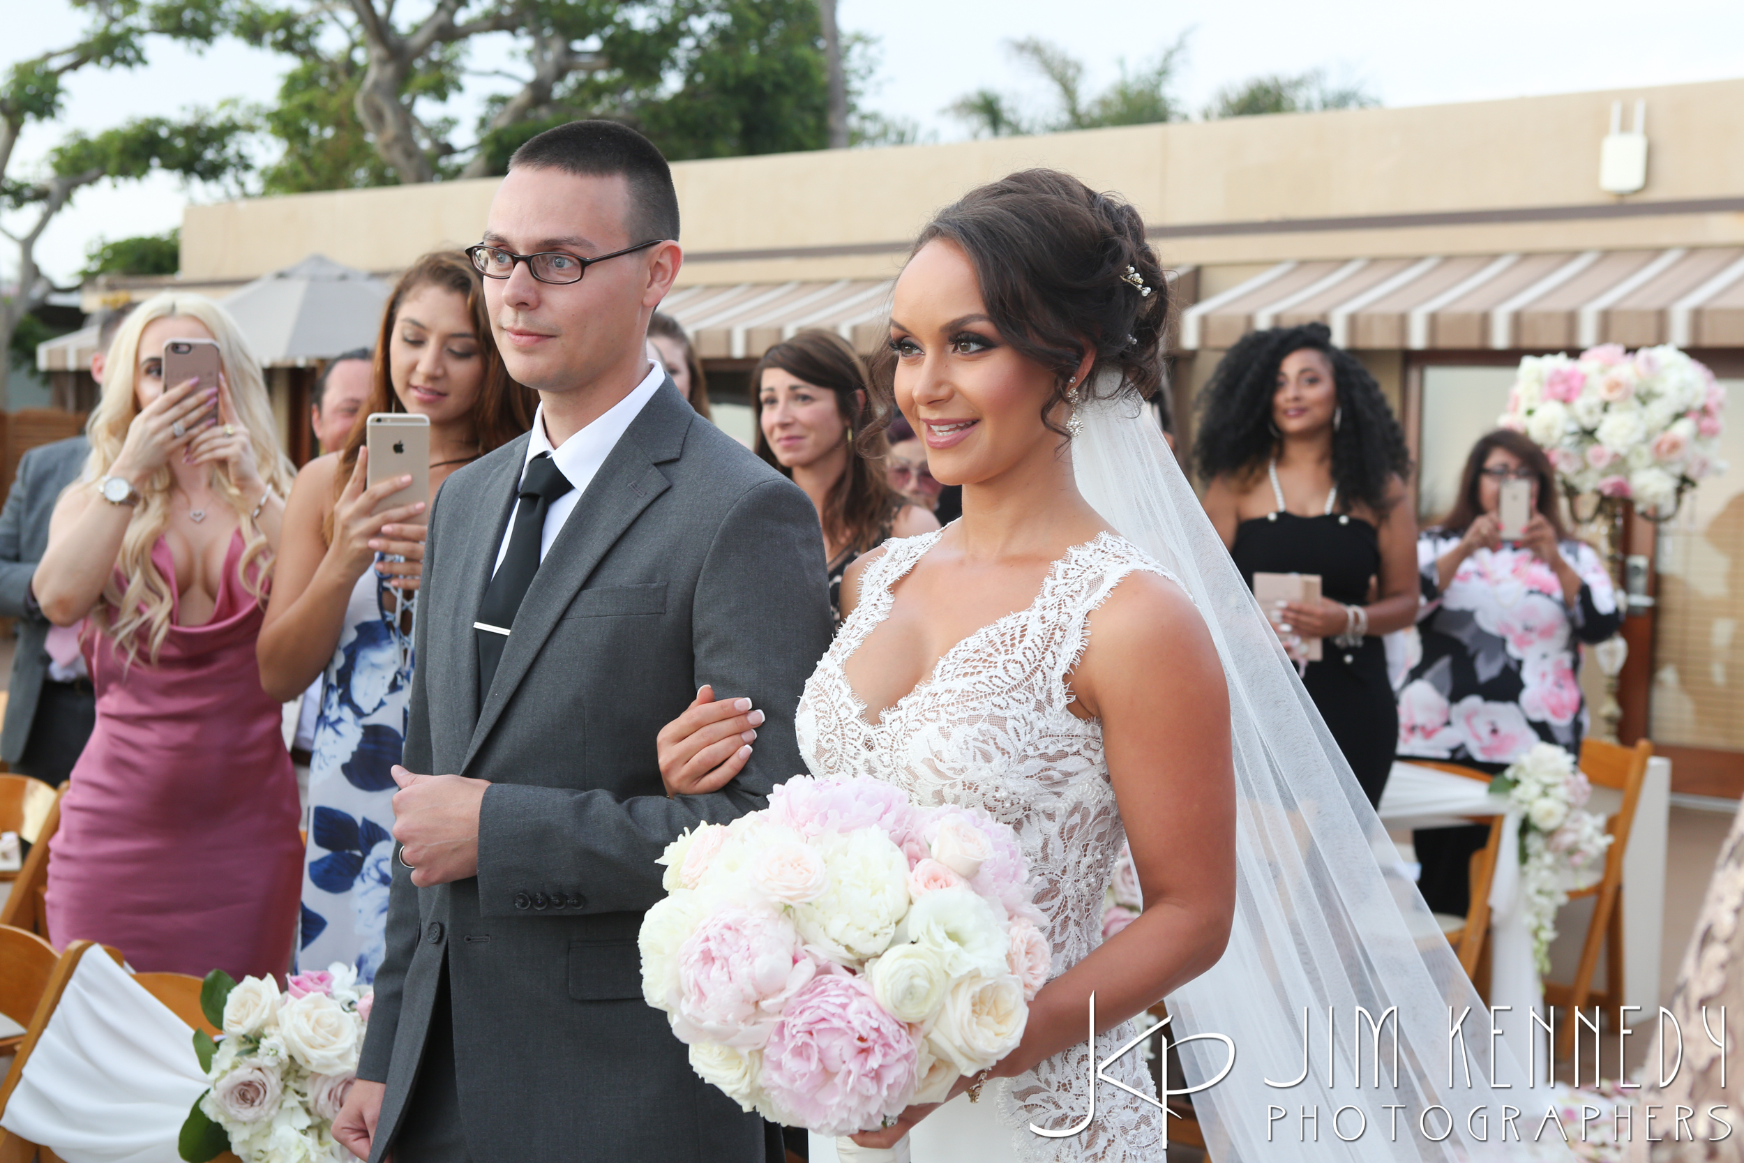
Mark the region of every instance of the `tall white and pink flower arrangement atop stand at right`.
[[1543, 448], [1570, 493], [1596, 492], [1671, 516], [1683, 490], [1727, 467], [1725, 403], [1714, 373], [1676, 347], [1631, 354], [1604, 343], [1578, 359], [1521, 359], [1498, 424]]

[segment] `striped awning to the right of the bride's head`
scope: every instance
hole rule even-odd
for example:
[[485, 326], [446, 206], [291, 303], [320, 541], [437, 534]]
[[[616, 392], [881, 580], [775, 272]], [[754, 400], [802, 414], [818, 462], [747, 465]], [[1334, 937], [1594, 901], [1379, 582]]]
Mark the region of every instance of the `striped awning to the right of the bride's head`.
[[1181, 347], [1324, 323], [1355, 349], [1744, 347], [1744, 248], [1284, 262], [1181, 312]]

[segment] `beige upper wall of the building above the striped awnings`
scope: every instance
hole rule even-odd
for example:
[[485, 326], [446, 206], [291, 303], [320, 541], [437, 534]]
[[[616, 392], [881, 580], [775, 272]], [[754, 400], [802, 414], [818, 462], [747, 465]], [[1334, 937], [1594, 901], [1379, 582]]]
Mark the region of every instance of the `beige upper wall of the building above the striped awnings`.
[[[1613, 99], [1646, 99], [1648, 185], [1598, 188]], [[835, 150], [673, 166], [684, 282], [881, 277], [963, 190], [1055, 166], [1130, 197], [1151, 225], [1604, 206], [1744, 195], [1744, 80], [1395, 110], [1243, 117], [1041, 138]], [[368, 270], [483, 228], [495, 180], [190, 206], [187, 279], [244, 279], [323, 253]], [[1744, 214], [1678, 213], [1411, 228], [1165, 237], [1172, 263], [1744, 242]], [[889, 244], [872, 255], [736, 251]]]

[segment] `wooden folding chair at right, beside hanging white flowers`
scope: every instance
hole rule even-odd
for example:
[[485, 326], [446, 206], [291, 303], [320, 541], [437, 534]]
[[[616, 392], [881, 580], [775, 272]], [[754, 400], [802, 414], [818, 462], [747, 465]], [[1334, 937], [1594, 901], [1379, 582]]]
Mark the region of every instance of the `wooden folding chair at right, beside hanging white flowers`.
[[[1604, 875], [1598, 884], [1570, 893], [1577, 896], [1594, 896], [1592, 921], [1587, 924], [1587, 940], [1580, 947], [1580, 964], [1575, 968], [1575, 980], [1568, 985], [1559, 982], [1543, 983], [1543, 1003], [1547, 1006], [1566, 1006], [1568, 1020], [1556, 1032], [1556, 1057], [1566, 1058], [1575, 1051], [1575, 1013], [1592, 1003], [1601, 1010], [1615, 1010], [1624, 1004], [1624, 854], [1629, 849], [1629, 830], [1634, 826], [1636, 806], [1641, 802], [1641, 785], [1646, 781], [1646, 764], [1653, 758], [1652, 739], [1641, 739], [1634, 746], [1599, 743], [1587, 739], [1580, 745], [1580, 771], [1587, 781], [1599, 788], [1615, 788], [1624, 793], [1622, 807], [1604, 821], [1604, 830], [1611, 835], [1611, 846], [1604, 853]], [[1604, 990], [1592, 989], [1592, 975], [1599, 968], [1599, 945], [1604, 945]]]

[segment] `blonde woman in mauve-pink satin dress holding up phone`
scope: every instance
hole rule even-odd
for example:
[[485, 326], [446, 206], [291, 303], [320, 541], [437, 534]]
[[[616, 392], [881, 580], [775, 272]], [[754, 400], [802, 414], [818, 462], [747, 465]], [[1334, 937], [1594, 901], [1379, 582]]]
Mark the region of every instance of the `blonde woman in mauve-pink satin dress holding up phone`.
[[[169, 340], [216, 340], [220, 380], [164, 384]], [[283, 975], [302, 842], [255, 638], [291, 466], [260, 364], [211, 300], [146, 300], [108, 366], [33, 581], [49, 621], [85, 621], [98, 699], [49, 853], [49, 933], [141, 971]]]

